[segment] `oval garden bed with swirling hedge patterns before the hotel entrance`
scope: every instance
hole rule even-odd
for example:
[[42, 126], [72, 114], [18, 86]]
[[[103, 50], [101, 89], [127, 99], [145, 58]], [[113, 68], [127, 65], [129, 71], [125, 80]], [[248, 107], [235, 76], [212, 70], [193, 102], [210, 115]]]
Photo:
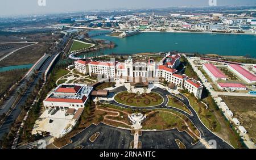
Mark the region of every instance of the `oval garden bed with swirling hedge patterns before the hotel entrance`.
[[150, 107], [163, 103], [162, 96], [156, 92], [150, 92], [149, 94], [135, 94], [132, 92], [123, 91], [115, 96], [115, 100], [118, 103], [134, 107]]

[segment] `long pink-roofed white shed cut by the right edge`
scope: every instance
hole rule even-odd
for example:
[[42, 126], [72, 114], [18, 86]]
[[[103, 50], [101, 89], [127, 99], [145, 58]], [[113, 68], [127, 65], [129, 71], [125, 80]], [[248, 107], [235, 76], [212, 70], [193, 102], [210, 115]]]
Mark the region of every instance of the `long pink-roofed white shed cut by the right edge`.
[[243, 79], [243, 81], [247, 83], [256, 83], [256, 76], [250, 73], [250, 71], [247, 71], [246, 69], [242, 68], [242, 66], [229, 64], [228, 69], [236, 75], [238, 75], [238, 77]]

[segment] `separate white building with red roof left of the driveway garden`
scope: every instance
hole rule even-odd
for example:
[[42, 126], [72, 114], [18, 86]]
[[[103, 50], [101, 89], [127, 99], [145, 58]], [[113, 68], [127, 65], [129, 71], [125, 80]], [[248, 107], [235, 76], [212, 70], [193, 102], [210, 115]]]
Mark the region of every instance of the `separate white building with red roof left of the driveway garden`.
[[93, 87], [81, 84], [63, 84], [51, 91], [43, 104], [46, 110], [66, 111], [69, 108], [78, 110], [85, 107]]

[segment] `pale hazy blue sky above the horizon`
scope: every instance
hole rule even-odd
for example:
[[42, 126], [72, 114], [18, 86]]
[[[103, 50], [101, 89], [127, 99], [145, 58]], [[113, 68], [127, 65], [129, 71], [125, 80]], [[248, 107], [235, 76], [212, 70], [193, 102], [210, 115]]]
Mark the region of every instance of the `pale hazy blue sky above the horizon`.
[[[44, 14], [118, 8], [162, 8], [176, 6], [208, 6], [209, 0], [1, 0], [0, 15]], [[217, 5], [256, 5], [256, 0], [216, 0]]]

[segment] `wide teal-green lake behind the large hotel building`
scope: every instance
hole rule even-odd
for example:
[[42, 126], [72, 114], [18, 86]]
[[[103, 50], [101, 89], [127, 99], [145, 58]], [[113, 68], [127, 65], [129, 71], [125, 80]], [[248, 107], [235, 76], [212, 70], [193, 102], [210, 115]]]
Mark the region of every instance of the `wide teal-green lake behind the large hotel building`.
[[[93, 33], [95, 33], [94, 31]], [[118, 38], [106, 35], [93, 39], [113, 41], [117, 47], [100, 50], [104, 54], [134, 54], [146, 52], [179, 52], [220, 54], [222, 56], [245, 56], [256, 58], [256, 35], [145, 32]]]

